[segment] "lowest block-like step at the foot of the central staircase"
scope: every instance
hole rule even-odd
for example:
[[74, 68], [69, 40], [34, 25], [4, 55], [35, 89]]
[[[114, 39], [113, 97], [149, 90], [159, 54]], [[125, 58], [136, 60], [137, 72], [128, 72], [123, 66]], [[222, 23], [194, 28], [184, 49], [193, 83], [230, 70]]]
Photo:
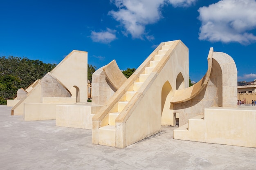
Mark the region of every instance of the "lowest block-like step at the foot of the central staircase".
[[99, 144], [115, 147], [115, 126], [108, 125], [99, 128]]

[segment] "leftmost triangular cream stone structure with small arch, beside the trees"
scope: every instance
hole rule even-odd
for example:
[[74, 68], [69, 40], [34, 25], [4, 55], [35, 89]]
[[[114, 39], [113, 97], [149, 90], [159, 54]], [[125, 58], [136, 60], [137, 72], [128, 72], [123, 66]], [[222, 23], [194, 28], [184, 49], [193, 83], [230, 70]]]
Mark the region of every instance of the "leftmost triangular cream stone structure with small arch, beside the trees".
[[[87, 52], [72, 51], [51, 72], [18, 91], [11, 115], [23, 115], [25, 121], [56, 119], [56, 105], [87, 102]], [[22, 96], [22, 97], [21, 97]]]

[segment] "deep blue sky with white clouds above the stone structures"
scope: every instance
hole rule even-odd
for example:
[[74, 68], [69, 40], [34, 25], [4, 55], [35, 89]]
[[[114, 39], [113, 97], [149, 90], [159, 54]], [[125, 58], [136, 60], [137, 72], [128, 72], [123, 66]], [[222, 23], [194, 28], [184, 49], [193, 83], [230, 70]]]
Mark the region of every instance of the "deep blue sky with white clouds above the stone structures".
[[255, 0], [0, 0], [0, 56], [58, 64], [75, 49], [126, 70], [171, 40], [189, 48], [192, 81], [210, 47], [234, 59], [238, 81], [256, 79]]

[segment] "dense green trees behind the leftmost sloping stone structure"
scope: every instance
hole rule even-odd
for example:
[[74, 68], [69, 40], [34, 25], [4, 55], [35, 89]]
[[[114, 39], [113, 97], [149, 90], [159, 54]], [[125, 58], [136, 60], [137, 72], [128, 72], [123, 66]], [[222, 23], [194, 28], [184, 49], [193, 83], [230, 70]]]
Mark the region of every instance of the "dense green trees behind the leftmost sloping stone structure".
[[26, 57], [0, 57], [0, 104], [6, 103], [6, 99], [14, 98], [19, 88], [27, 88], [55, 66], [56, 64], [45, 64]]

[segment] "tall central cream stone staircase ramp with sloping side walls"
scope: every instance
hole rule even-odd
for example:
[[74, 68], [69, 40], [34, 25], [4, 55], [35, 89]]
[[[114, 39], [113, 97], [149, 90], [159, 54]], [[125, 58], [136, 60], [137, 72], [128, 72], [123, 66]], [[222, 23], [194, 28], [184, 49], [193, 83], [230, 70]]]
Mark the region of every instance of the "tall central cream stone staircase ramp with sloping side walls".
[[161, 43], [93, 117], [92, 143], [124, 148], [160, 132], [162, 88], [177, 75], [188, 84], [187, 60], [180, 40]]

